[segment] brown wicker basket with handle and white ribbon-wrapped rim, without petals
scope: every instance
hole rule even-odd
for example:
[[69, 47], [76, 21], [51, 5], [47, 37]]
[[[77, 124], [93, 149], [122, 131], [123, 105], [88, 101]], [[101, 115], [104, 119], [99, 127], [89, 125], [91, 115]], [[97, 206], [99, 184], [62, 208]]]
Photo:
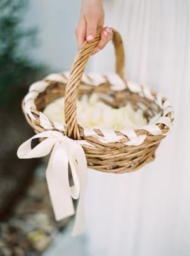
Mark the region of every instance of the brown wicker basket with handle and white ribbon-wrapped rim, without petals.
[[[166, 137], [172, 121], [173, 109], [167, 98], [149, 90], [147, 86], [127, 82], [124, 77], [125, 56], [120, 34], [113, 30], [116, 55], [116, 73], [99, 75], [99, 84], [84, 69], [89, 56], [100, 40], [101, 30], [91, 43], [85, 41], [77, 54], [70, 75], [51, 74], [30, 86], [22, 102], [25, 117], [36, 133], [56, 130], [74, 140], [85, 140], [82, 144], [89, 168], [109, 173], [134, 172], [153, 161], [155, 151]], [[113, 84], [110, 77], [117, 79]], [[111, 82], [110, 82], [111, 81]], [[101, 93], [101, 100], [112, 107], [122, 107], [130, 102], [137, 110], [143, 109], [151, 124], [135, 130], [111, 131], [101, 128], [85, 129], [77, 123], [77, 98], [83, 94]], [[42, 111], [50, 102], [65, 95], [65, 124], [49, 120]], [[111, 139], [110, 139], [111, 136]]]

